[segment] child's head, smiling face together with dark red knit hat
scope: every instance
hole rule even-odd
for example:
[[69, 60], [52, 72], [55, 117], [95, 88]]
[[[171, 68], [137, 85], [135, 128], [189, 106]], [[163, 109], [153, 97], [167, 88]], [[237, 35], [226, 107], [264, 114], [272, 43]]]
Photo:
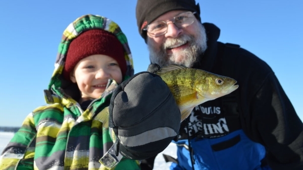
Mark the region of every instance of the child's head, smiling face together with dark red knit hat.
[[118, 84], [126, 74], [124, 48], [117, 37], [105, 30], [87, 30], [69, 45], [63, 69], [65, 79], [77, 84], [79, 103], [99, 98], [109, 79]]

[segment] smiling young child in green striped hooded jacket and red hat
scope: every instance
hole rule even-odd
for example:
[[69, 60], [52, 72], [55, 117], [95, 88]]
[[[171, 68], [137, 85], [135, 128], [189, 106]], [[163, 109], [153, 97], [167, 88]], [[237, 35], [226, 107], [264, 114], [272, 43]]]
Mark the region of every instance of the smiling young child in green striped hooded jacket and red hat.
[[[4, 149], [0, 169], [106, 169], [99, 159], [113, 142], [94, 117], [109, 106], [112, 89], [133, 75], [125, 35], [111, 20], [85, 15], [63, 33], [48, 105], [30, 113]], [[115, 169], [139, 169], [123, 158]]]

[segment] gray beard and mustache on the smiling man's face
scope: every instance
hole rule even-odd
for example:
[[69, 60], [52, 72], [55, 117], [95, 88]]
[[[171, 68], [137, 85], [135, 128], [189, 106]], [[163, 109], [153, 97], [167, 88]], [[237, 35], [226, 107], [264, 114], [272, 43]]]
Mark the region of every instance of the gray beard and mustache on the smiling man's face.
[[[156, 49], [153, 42], [148, 41], [147, 47], [149, 50], [149, 59], [151, 63], [156, 63], [161, 67], [169, 64], [183, 64], [186, 67], [192, 67], [193, 64], [198, 61], [199, 56], [207, 49], [207, 37], [205, 28], [202, 24], [198, 23], [199, 31], [195, 35], [183, 34], [177, 38], [169, 38], [160, 49]], [[173, 54], [167, 54], [166, 49], [171, 44], [185, 44], [188, 42], [188, 47]], [[183, 60], [180, 62], [176, 61], [177, 56], [183, 56]]]

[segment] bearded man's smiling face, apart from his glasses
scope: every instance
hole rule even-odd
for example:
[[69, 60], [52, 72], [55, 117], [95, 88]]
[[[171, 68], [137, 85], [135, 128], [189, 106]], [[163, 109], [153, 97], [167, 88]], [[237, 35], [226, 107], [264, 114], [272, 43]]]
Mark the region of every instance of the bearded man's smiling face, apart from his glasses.
[[[169, 21], [182, 12], [184, 11], [168, 12], [154, 22]], [[155, 37], [147, 33], [149, 59], [161, 67], [173, 63], [191, 67], [206, 50], [206, 42], [205, 29], [195, 18], [185, 28], [176, 27], [172, 21], [167, 22], [167, 32], [161, 36]]]

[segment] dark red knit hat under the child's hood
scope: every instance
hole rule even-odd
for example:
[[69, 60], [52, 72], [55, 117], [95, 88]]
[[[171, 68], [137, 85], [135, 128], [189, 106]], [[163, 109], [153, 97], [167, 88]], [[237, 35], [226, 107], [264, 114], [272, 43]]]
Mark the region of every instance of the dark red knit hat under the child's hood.
[[127, 70], [124, 48], [117, 37], [105, 30], [93, 29], [81, 33], [69, 45], [63, 76], [70, 79], [70, 72], [83, 58], [94, 54], [104, 54], [114, 58], [124, 76]]

